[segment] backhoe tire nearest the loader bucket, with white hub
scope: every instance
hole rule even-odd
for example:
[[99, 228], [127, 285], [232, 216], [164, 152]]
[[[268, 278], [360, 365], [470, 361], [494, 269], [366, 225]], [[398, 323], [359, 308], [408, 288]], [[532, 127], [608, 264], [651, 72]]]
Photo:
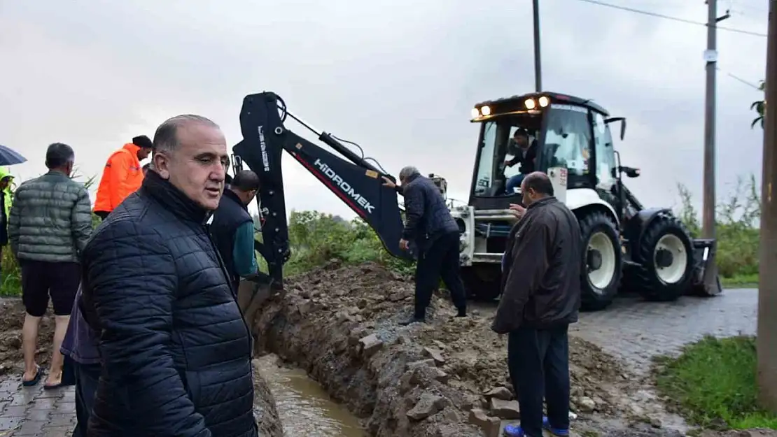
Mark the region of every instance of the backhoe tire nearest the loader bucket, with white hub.
[[639, 239], [626, 286], [646, 300], [669, 302], [684, 295], [693, 279], [693, 246], [688, 229], [677, 217], [661, 213]]

